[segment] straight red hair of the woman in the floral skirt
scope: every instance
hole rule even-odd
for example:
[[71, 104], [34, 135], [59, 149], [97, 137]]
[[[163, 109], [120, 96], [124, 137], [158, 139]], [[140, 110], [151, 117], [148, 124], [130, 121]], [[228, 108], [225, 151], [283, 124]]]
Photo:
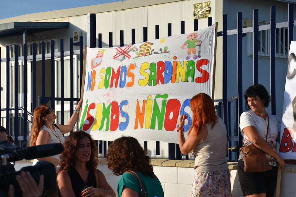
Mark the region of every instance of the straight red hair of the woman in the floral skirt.
[[193, 131], [194, 136], [197, 136], [198, 131], [200, 131], [206, 123], [212, 123], [213, 129], [217, 121], [217, 116], [211, 97], [205, 93], [199, 93], [192, 97], [190, 106], [193, 117], [188, 134]]

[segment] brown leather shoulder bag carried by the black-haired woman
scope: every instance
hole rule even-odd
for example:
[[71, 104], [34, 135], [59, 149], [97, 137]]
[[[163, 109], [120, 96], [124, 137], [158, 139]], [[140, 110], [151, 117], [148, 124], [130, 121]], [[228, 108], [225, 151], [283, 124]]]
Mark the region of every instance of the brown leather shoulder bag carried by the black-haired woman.
[[[267, 133], [265, 141], [267, 140], [267, 134], [269, 130], [269, 116], [267, 114]], [[245, 172], [265, 172], [271, 170], [271, 166], [266, 158], [265, 152], [259, 149], [255, 145], [247, 145], [240, 148], [245, 164]]]

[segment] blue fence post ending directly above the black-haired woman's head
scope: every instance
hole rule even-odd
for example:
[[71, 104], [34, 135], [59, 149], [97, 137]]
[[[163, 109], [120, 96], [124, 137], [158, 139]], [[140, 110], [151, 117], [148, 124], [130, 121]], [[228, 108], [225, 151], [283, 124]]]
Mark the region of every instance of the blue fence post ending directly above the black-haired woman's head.
[[253, 11], [253, 84], [258, 84], [258, 9]]

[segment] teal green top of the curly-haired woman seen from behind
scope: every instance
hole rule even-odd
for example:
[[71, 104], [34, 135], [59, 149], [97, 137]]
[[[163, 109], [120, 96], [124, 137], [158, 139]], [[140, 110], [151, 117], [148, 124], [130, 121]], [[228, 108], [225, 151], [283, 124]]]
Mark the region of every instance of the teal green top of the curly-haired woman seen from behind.
[[[164, 197], [162, 186], [156, 176], [155, 178], [151, 178], [149, 175], [144, 176], [140, 172], [136, 172], [136, 173], [139, 175], [141, 179], [141, 182], [147, 193], [147, 197], [153, 197], [153, 196]], [[120, 177], [117, 185], [117, 192], [119, 197], [121, 197], [122, 190], [124, 187], [128, 187], [135, 190], [136, 192], [139, 193], [139, 196], [140, 196], [140, 186], [139, 186], [138, 180], [131, 173], [125, 173]]]

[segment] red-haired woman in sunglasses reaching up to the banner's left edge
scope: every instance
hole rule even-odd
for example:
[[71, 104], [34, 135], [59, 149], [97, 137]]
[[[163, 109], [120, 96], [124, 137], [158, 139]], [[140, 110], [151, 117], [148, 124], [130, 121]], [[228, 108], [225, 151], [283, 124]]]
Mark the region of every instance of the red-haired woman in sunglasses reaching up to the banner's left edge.
[[[33, 112], [31, 146], [53, 143], [63, 144], [65, 141], [63, 134], [69, 133], [73, 130], [77, 122], [81, 103], [82, 100], [77, 103], [77, 107], [66, 125], [54, 124], [57, 117], [54, 113], [54, 109], [51, 107], [48, 107], [47, 105], [40, 105], [36, 107]], [[57, 166], [59, 159], [60, 155], [38, 158], [34, 159], [33, 165], [35, 165], [37, 161], [44, 160]]]

